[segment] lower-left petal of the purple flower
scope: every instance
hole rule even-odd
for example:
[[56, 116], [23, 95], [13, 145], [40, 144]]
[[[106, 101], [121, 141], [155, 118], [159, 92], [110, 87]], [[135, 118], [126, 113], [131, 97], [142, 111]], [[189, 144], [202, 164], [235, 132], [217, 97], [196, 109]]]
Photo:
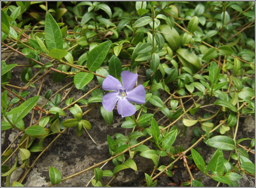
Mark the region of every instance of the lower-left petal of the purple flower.
[[117, 92], [107, 93], [102, 97], [102, 104], [106, 111], [112, 111], [119, 99], [120, 94]]

